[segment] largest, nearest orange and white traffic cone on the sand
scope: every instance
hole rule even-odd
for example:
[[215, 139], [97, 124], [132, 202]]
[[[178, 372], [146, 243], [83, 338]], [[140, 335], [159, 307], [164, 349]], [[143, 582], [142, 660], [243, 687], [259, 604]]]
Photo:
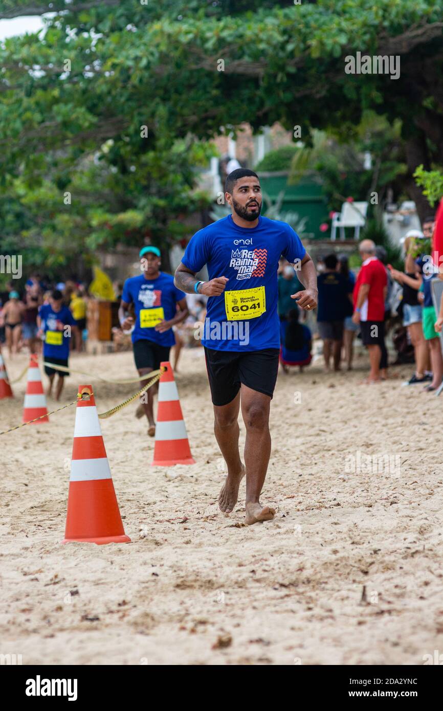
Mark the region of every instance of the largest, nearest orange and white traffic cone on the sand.
[[63, 543], [130, 543], [125, 535], [91, 385], [75, 411], [73, 457]]

